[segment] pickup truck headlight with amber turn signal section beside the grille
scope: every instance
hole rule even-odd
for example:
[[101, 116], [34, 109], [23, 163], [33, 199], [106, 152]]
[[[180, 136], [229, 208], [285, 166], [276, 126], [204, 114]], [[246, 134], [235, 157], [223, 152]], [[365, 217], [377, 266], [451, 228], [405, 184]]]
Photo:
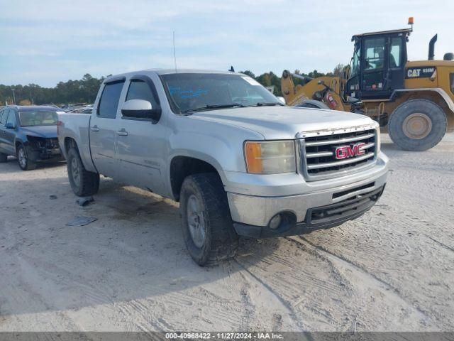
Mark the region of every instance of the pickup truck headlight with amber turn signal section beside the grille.
[[254, 174], [295, 173], [294, 141], [246, 141], [246, 170]]

